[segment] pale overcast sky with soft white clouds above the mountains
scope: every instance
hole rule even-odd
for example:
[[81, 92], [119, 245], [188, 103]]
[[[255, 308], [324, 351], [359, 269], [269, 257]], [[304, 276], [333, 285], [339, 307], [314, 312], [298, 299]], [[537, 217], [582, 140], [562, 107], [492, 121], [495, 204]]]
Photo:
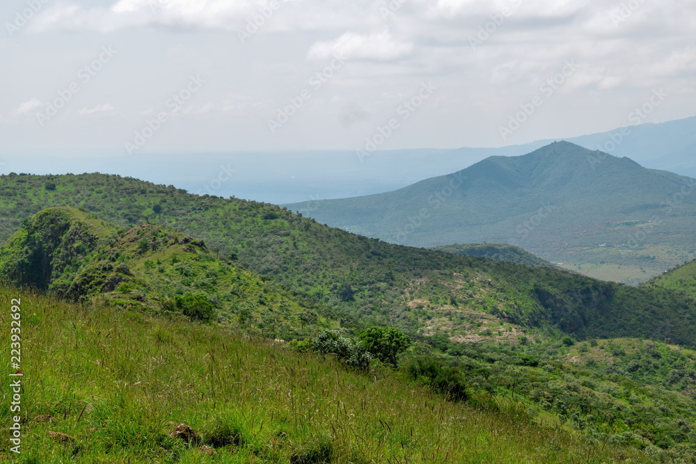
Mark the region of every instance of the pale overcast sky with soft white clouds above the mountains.
[[696, 0], [4, 0], [0, 18], [2, 157], [495, 147], [696, 114]]

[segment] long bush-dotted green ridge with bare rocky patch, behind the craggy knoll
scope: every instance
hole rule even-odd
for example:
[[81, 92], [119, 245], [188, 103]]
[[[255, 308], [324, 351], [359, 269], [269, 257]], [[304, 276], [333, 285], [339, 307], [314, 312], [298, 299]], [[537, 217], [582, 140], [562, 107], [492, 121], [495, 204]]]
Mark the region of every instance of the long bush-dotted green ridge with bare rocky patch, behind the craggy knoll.
[[[301, 294], [312, 305], [350, 314], [363, 325], [390, 325], [413, 334], [437, 331], [450, 339], [472, 333], [488, 337], [475, 323], [485, 315], [515, 330], [562, 330], [581, 338], [670, 338], [696, 345], [693, 306], [669, 291], [396, 246], [274, 205], [199, 197], [118, 176], [8, 175], [1, 181], [0, 225], [7, 237], [12, 227], [47, 205], [81, 207], [122, 227], [147, 216], [150, 223], [203, 239], [213, 253], [236, 259], [237, 265]], [[155, 261], [153, 274], [157, 266]]]

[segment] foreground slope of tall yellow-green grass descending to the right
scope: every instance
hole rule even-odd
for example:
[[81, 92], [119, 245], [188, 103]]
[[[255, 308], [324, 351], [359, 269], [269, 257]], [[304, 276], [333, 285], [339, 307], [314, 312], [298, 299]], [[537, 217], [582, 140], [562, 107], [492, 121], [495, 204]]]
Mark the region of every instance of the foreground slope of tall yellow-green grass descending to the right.
[[[532, 423], [512, 406], [445, 401], [390, 369], [349, 371], [260, 337], [0, 287], [2, 307], [12, 298], [22, 314], [22, 454], [3, 439], [3, 462], [636, 463], [654, 456]], [[8, 327], [9, 310], [0, 321]], [[8, 337], [0, 333], [5, 346]], [[7, 350], [0, 360], [7, 365]], [[9, 391], [0, 403], [3, 431], [13, 424]], [[188, 435], [171, 436], [177, 429]]]

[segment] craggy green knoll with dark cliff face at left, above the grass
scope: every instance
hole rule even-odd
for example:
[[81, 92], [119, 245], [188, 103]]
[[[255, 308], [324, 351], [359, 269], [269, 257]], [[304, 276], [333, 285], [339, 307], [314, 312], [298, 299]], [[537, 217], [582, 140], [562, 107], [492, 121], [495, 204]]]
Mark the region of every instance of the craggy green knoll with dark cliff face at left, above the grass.
[[24, 221], [0, 247], [0, 277], [72, 301], [99, 298], [278, 337], [331, 325], [302, 298], [219, 259], [203, 240], [159, 225], [126, 230], [71, 207]]

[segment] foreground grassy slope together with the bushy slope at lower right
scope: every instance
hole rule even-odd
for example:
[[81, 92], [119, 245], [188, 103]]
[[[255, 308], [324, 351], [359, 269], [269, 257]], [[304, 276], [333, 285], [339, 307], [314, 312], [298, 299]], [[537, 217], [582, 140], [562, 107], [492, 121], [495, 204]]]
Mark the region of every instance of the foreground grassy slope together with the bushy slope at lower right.
[[[696, 352], [679, 346], [466, 344], [452, 346], [454, 367], [416, 349], [400, 369], [366, 372], [256, 335], [1, 286], [0, 304], [17, 303], [22, 454], [2, 440], [3, 462], [599, 464], [696, 456]], [[0, 315], [3, 326], [10, 314]], [[0, 342], [8, 338], [0, 334]], [[464, 390], [461, 401], [433, 391], [447, 385]], [[6, 431], [17, 414], [9, 408], [0, 403]], [[195, 435], [171, 436], [177, 429]]]

